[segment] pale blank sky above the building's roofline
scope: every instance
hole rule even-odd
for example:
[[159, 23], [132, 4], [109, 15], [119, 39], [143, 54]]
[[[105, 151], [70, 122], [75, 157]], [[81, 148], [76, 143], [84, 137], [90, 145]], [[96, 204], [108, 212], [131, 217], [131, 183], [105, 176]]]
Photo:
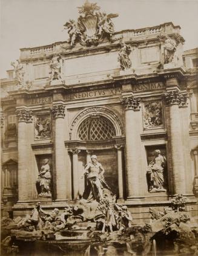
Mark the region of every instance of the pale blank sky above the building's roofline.
[[[0, 0], [1, 49], [0, 77], [12, 69], [19, 49], [68, 39], [63, 25], [78, 19], [77, 7], [84, 0]], [[198, 0], [90, 0], [101, 10], [118, 13], [113, 19], [116, 31], [157, 26], [172, 21], [181, 27], [184, 50], [198, 47]]]

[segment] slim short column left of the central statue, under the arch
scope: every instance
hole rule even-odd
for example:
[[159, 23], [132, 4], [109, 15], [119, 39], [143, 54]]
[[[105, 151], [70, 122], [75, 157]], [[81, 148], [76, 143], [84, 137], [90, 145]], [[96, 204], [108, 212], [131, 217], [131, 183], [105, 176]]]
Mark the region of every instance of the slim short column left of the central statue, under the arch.
[[73, 166], [73, 199], [79, 199], [79, 171], [78, 171], [78, 153], [81, 152], [78, 148], [70, 150], [72, 153], [72, 166]]

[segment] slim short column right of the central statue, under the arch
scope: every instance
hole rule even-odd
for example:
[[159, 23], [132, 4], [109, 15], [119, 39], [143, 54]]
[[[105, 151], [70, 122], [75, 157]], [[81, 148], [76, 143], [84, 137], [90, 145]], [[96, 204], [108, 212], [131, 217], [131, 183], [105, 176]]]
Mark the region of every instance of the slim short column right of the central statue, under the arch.
[[119, 198], [123, 198], [123, 168], [122, 168], [122, 145], [115, 145], [117, 150], [117, 171]]

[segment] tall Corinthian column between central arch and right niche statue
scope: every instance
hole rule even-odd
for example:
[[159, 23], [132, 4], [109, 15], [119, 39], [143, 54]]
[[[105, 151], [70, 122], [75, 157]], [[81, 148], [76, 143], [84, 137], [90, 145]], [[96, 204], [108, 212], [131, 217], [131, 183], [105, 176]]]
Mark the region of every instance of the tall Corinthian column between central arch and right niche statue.
[[128, 199], [140, 196], [141, 140], [140, 140], [140, 98], [122, 97], [125, 108], [126, 168]]

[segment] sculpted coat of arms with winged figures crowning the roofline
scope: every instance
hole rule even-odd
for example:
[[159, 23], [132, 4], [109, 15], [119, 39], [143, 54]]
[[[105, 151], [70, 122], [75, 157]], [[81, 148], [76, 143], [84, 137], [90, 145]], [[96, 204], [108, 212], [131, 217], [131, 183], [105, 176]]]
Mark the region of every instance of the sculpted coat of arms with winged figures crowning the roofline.
[[70, 19], [64, 25], [65, 29], [68, 29], [71, 47], [74, 47], [76, 43], [85, 46], [97, 45], [104, 38], [112, 40], [114, 25], [111, 18], [117, 17], [117, 14], [101, 13], [97, 4], [88, 1], [78, 9], [80, 14], [78, 21]]

